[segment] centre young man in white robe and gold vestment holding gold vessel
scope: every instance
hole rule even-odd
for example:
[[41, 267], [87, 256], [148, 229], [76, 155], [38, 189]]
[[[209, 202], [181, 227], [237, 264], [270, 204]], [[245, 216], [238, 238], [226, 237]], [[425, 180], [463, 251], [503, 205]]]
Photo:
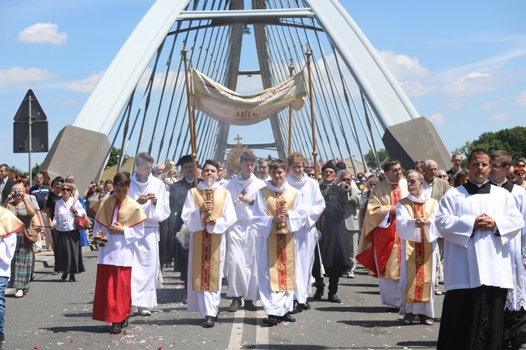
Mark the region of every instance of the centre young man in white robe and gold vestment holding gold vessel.
[[256, 195], [250, 224], [257, 231], [257, 284], [268, 316], [264, 323], [274, 325], [295, 321], [288, 314], [296, 289], [294, 235], [305, 224], [305, 208], [302, 194], [285, 180], [285, 162], [274, 159], [269, 171], [271, 180]]

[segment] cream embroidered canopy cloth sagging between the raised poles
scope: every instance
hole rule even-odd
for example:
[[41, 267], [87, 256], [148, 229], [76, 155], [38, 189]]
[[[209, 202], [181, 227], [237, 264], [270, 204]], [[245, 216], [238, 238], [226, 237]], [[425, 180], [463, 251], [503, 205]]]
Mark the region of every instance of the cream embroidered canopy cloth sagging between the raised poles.
[[235, 93], [194, 68], [190, 78], [191, 104], [195, 109], [223, 123], [240, 126], [264, 121], [289, 105], [296, 111], [301, 109], [307, 90], [303, 71], [252, 95]]

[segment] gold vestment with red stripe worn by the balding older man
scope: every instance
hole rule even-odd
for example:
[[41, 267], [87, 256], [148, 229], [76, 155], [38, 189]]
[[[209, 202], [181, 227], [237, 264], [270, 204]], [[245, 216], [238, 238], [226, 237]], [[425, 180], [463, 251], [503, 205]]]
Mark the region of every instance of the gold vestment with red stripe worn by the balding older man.
[[[422, 215], [429, 219], [438, 202], [430, 198], [426, 203], [416, 203], [403, 198], [400, 203], [416, 218]], [[426, 238], [424, 227], [420, 228], [420, 242], [405, 241], [405, 262], [407, 271], [407, 288], [405, 302], [429, 302], [431, 300], [431, 285], [433, 276], [433, 243]]]

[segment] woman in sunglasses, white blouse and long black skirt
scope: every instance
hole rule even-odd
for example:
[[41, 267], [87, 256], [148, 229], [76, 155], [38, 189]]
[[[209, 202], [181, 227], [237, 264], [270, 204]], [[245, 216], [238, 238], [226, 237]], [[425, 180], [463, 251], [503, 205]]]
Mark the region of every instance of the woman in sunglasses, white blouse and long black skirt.
[[64, 183], [60, 188], [62, 199], [55, 205], [55, 218], [51, 227], [57, 231], [55, 241], [55, 271], [62, 272], [62, 281], [75, 281], [75, 274], [84, 269], [82, 262], [81, 236], [75, 226], [75, 214], [86, 217], [86, 210], [76, 201], [72, 184]]

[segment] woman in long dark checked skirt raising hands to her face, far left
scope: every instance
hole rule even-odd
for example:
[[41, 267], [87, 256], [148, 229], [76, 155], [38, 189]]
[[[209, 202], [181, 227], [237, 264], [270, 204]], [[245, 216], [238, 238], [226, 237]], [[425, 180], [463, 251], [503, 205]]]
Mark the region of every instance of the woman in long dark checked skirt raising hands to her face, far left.
[[[24, 226], [32, 227], [31, 220], [35, 215], [34, 204], [25, 194], [23, 184], [13, 184], [3, 204], [4, 208], [15, 214]], [[15, 288], [15, 297], [23, 297], [29, 290], [29, 278], [31, 278], [31, 264], [33, 261], [33, 243], [25, 242], [22, 238], [24, 231], [18, 231], [15, 255], [11, 261], [11, 279], [8, 288]]]

